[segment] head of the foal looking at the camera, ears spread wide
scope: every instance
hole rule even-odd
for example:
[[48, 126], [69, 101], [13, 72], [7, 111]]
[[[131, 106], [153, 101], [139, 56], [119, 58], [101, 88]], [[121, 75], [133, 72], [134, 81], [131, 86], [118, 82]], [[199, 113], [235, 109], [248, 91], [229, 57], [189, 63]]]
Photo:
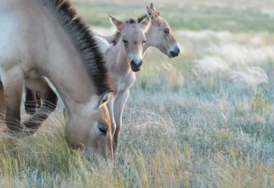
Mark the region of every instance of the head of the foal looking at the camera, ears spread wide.
[[146, 42], [144, 33], [150, 27], [151, 16], [147, 16], [141, 23], [132, 19], [124, 23], [111, 15], [110, 19], [121, 35], [116, 45], [125, 48], [132, 71], [138, 72], [142, 66], [142, 50]]

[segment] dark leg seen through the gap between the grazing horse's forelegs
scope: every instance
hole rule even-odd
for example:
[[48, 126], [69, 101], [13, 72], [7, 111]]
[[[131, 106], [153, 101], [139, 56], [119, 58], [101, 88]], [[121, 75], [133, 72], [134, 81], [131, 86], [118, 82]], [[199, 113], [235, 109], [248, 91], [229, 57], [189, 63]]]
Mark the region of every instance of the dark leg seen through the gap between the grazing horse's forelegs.
[[25, 87], [25, 111], [29, 115], [34, 115], [37, 110], [36, 93]]

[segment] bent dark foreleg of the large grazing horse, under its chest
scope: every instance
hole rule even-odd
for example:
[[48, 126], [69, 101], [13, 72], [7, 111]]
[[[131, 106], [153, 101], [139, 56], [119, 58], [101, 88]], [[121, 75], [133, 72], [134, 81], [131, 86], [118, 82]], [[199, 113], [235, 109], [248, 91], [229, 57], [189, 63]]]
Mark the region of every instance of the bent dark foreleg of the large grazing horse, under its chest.
[[32, 129], [29, 130], [29, 133], [35, 133], [42, 122], [46, 120], [49, 117], [49, 114], [57, 107], [58, 96], [53, 92], [45, 77], [27, 79], [25, 85], [29, 89], [35, 90], [43, 101], [42, 106], [36, 111], [34, 116], [23, 123], [25, 127]]

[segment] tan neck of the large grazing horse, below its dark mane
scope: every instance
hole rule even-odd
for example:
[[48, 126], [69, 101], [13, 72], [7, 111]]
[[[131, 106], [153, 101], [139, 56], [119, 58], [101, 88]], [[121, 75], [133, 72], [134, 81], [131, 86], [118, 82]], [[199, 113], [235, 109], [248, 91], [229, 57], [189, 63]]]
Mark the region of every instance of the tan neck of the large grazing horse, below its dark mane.
[[48, 50], [44, 57], [46, 63], [38, 62], [38, 69], [53, 83], [66, 108], [70, 108], [69, 105], [77, 107], [87, 104], [95, 95], [95, 87], [81, 55], [64, 29], [57, 23], [49, 22], [44, 23], [47, 24], [44, 27], [47, 38], [47, 44], [44, 42], [44, 45], [47, 46], [42, 47]]

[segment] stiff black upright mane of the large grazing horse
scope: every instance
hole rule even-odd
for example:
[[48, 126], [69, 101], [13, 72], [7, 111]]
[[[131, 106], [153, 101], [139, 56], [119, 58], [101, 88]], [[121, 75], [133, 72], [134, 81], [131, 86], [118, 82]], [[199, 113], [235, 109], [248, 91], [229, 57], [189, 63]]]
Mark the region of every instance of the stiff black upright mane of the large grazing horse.
[[101, 95], [113, 90], [105, 59], [97, 46], [94, 34], [90, 32], [82, 18], [77, 16], [77, 11], [73, 8], [71, 1], [44, 0], [43, 2], [45, 2], [45, 6], [49, 5], [49, 8], [57, 16], [61, 27], [71, 37], [73, 45], [82, 57], [90, 79], [95, 85], [96, 93]]

